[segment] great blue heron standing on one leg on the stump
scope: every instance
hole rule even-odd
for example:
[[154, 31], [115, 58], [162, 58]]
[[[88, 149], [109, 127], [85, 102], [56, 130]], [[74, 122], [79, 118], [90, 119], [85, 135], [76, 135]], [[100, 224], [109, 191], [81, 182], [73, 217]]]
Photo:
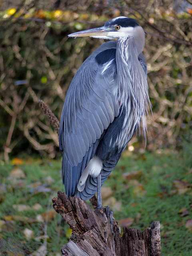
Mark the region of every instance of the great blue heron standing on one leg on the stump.
[[114, 39], [97, 48], [76, 72], [64, 102], [59, 144], [67, 196], [84, 200], [98, 192], [143, 121], [149, 96], [142, 54], [145, 32], [132, 18], [117, 17], [103, 27], [70, 37]]

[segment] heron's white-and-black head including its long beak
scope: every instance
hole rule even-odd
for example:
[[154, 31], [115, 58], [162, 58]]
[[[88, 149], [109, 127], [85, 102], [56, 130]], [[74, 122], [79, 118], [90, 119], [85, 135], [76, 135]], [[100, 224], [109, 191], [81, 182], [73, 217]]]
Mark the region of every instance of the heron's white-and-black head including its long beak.
[[145, 37], [144, 30], [136, 20], [124, 16], [107, 21], [103, 27], [84, 30], [68, 35], [70, 37], [90, 36], [94, 38], [114, 39], [128, 36]]

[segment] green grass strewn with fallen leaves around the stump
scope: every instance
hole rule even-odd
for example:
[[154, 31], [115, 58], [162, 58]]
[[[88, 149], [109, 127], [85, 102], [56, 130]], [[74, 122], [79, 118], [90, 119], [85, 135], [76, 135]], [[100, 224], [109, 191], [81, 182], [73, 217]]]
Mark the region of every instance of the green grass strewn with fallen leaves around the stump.
[[[36, 238], [46, 234], [47, 255], [56, 255], [62, 244], [68, 241], [68, 225], [61, 221], [58, 214], [48, 222], [36, 221], [36, 216], [49, 212], [52, 209], [51, 199], [57, 196], [58, 190], [64, 191], [61, 160], [31, 159], [18, 168], [25, 177], [13, 179], [10, 174], [14, 165], [11, 162], [0, 165], [0, 220], [4, 220], [0, 226], [0, 252], [10, 255], [7, 248], [16, 252], [17, 247], [18, 253], [23, 252], [18, 255], [29, 255], [44, 244], [44, 237], [38, 241]], [[128, 172], [139, 174], [128, 180], [124, 176]], [[48, 184], [47, 176], [51, 176], [54, 182]], [[177, 183], [175, 180], [178, 180]], [[36, 182], [40, 182], [40, 187], [33, 190], [34, 185], [38, 185]], [[192, 255], [192, 228], [186, 227], [187, 221], [192, 220], [190, 146], [175, 154], [124, 152], [104, 186], [110, 186], [113, 196], [121, 202], [120, 209], [114, 212], [116, 220], [133, 218], [131, 227], [141, 231], [158, 220], [161, 224], [162, 256]], [[32, 207], [36, 203], [42, 208], [34, 210]], [[19, 212], [13, 208], [13, 205], [20, 204], [30, 206], [30, 210]], [[185, 214], [182, 214], [182, 208], [186, 208]], [[24, 236], [26, 228], [34, 231], [29, 240]]]

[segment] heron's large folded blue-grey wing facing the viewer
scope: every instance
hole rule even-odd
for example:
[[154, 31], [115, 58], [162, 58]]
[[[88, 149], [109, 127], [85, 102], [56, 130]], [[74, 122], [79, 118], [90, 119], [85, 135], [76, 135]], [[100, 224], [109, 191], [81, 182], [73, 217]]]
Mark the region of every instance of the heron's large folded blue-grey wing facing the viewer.
[[68, 89], [59, 133], [66, 194], [73, 196], [80, 175], [119, 105], [114, 95], [116, 42], [102, 44], [82, 64]]

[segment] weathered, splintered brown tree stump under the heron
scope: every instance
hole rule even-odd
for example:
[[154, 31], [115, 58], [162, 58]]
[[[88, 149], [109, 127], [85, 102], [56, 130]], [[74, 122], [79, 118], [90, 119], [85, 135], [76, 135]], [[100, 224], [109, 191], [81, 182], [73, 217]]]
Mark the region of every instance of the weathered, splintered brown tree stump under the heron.
[[61, 252], [65, 256], [160, 256], [160, 223], [153, 222], [150, 229], [141, 232], [136, 228], [121, 230], [113, 222], [112, 234], [106, 208], [93, 211], [86, 201], [67, 197], [58, 192], [53, 198], [53, 207], [72, 229], [70, 242]]

